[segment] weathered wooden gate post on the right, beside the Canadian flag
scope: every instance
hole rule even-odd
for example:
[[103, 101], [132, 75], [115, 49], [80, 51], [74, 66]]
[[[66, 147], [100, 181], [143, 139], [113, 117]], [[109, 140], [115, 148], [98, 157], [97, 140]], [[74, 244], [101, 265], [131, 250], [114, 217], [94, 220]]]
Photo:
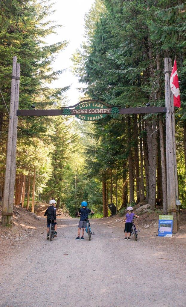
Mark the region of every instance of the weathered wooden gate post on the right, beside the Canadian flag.
[[[165, 58], [165, 105], [166, 112], [166, 154], [167, 154], [167, 211], [173, 215], [173, 232], [178, 230], [176, 212], [176, 185], [175, 185], [175, 166], [173, 149], [173, 125], [172, 125], [172, 105], [169, 79], [169, 59]], [[175, 127], [174, 127], [175, 128]]]

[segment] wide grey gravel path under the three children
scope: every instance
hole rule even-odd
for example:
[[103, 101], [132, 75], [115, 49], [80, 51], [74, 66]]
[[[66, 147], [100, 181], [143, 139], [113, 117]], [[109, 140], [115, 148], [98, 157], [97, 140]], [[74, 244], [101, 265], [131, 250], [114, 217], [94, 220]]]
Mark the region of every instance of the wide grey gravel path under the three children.
[[106, 219], [91, 220], [91, 241], [87, 235], [75, 241], [77, 222], [59, 220], [59, 237], [50, 242], [41, 234], [43, 219], [34, 237], [0, 264], [1, 307], [186, 306], [181, 250], [124, 241]]

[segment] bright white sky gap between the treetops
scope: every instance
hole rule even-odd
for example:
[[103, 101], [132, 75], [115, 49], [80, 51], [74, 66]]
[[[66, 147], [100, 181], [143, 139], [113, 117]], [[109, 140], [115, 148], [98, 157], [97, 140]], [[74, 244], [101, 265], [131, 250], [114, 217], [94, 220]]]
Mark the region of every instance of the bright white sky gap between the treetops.
[[51, 44], [57, 41], [69, 41], [65, 50], [59, 53], [54, 70], [65, 69], [59, 80], [52, 83], [52, 87], [65, 87], [71, 84], [70, 90], [66, 92], [69, 105], [73, 105], [79, 101], [81, 93], [77, 90], [82, 84], [78, 83], [78, 78], [73, 76], [70, 71], [72, 61], [70, 60], [74, 51], [81, 45], [84, 34], [84, 15], [94, 3], [94, 0], [56, 0], [54, 9], [56, 12], [50, 17], [51, 20], [63, 25], [58, 28], [58, 35], [50, 35], [47, 37], [47, 43]]

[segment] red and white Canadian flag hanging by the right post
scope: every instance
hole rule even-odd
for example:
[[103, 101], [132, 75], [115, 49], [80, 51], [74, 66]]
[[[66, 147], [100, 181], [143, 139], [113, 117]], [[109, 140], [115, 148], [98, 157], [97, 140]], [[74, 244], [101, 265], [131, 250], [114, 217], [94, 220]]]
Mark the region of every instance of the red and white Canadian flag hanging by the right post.
[[170, 89], [174, 95], [174, 106], [180, 108], [181, 101], [176, 59], [174, 60], [174, 66], [170, 76]]

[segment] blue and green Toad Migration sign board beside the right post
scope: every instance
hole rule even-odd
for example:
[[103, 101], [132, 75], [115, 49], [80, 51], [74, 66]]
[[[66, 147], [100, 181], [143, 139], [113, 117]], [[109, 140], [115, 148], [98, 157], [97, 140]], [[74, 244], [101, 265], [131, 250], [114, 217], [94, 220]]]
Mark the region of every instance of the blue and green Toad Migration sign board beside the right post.
[[172, 215], [160, 215], [159, 216], [159, 237], [172, 237], [173, 235], [173, 216]]

